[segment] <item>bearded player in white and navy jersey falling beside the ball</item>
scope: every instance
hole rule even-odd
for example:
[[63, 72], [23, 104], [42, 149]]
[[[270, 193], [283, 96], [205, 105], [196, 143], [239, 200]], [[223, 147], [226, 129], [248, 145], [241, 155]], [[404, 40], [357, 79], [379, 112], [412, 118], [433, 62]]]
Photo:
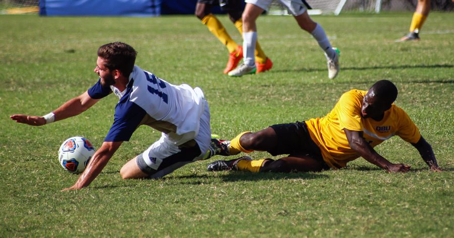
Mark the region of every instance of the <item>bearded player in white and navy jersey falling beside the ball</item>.
[[172, 85], [140, 69], [134, 65], [136, 55], [133, 47], [122, 42], [102, 45], [94, 69], [99, 80], [94, 86], [47, 115], [11, 116], [18, 123], [42, 126], [78, 115], [112, 92], [119, 97], [104, 142], [79, 180], [64, 191], [88, 186], [140, 125], [150, 126], [162, 136], [121, 168], [122, 178], [162, 177], [209, 156], [205, 152], [211, 141], [210, 112], [202, 90]]

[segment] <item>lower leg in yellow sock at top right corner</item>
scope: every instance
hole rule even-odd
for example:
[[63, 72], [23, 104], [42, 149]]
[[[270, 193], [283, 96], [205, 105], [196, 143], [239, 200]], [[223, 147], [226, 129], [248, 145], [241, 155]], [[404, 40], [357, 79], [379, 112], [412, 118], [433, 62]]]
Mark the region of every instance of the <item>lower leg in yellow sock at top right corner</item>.
[[[454, 1], [454, 0], [453, 0]], [[396, 42], [409, 40], [419, 40], [419, 32], [426, 21], [430, 12], [430, 0], [418, 0], [415, 13], [413, 14], [412, 23], [410, 24], [410, 32]]]

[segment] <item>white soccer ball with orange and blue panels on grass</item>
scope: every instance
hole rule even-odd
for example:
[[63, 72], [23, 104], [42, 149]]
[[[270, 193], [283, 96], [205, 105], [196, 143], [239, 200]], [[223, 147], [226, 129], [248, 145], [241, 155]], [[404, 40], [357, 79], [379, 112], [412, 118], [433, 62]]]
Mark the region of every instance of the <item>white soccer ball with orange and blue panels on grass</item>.
[[71, 137], [60, 146], [59, 161], [65, 170], [81, 173], [95, 151], [89, 140], [80, 136]]

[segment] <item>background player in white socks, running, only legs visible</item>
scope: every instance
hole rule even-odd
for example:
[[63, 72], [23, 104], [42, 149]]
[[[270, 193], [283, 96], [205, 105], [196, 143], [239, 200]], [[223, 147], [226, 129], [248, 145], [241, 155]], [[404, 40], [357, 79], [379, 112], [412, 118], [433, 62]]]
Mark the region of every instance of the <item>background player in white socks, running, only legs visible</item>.
[[[246, 7], [243, 12], [243, 50], [244, 62], [235, 70], [229, 73], [229, 76], [243, 76], [252, 74], [256, 71], [254, 64], [254, 49], [257, 41], [257, 26], [255, 21], [268, 10], [273, 0], [246, 0]], [[333, 79], [339, 72], [339, 52], [336, 48], [331, 47], [328, 37], [323, 28], [312, 21], [307, 10], [311, 9], [304, 0], [279, 0], [289, 12], [295, 17], [301, 29], [309, 32], [318, 42], [320, 48], [324, 51], [328, 63], [328, 77]]]

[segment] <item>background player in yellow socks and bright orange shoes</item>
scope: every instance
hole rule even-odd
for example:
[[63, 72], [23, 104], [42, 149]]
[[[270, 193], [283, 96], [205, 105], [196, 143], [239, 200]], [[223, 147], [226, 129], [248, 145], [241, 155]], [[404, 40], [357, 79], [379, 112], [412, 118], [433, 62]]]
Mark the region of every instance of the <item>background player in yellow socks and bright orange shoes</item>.
[[[243, 21], [241, 14], [243, 13], [243, 0], [198, 0], [195, 15], [208, 27], [208, 30], [213, 33], [219, 41], [229, 50], [229, 62], [227, 63], [224, 74], [229, 73], [238, 66], [238, 63], [243, 58], [243, 47], [238, 45], [227, 33], [220, 21], [211, 14], [211, 8], [219, 5], [221, 9], [228, 13], [230, 20], [234, 23], [240, 34], [243, 35]], [[273, 66], [259, 43], [255, 46], [255, 65], [256, 72], [265, 72]]]

